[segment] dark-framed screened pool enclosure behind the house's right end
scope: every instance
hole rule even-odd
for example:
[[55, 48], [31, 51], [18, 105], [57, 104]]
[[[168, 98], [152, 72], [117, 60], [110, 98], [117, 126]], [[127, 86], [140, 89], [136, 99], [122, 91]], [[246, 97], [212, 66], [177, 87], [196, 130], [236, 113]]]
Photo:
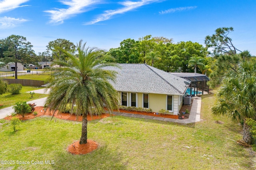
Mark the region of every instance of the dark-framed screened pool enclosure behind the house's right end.
[[[186, 80], [190, 80], [191, 83], [188, 88], [190, 88], [189, 95], [191, 96], [195, 96], [195, 94], [197, 96], [198, 91], [202, 91], [202, 94], [204, 94], [204, 91], [209, 93], [209, 86], [207, 85], [207, 81], [210, 79], [204, 74], [193, 72], [170, 72], [170, 74], [184, 78]], [[194, 94], [192, 94], [192, 89], [194, 90]]]

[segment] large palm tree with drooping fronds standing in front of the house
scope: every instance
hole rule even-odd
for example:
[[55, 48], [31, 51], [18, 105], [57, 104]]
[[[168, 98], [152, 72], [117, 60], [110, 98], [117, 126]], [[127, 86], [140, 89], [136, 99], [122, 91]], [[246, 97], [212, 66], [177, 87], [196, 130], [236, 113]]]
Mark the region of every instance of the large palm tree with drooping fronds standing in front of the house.
[[[110, 84], [114, 81], [117, 72], [106, 70], [106, 66], [115, 64], [103, 63], [96, 48], [85, 47], [82, 40], [79, 42], [78, 54], [74, 55], [63, 51], [66, 61], [56, 59], [54, 64], [60, 68], [49, 68], [53, 78], [47, 89], [50, 94], [46, 104], [50, 110], [62, 112], [67, 104], [76, 105], [76, 115], [82, 115], [82, 135], [80, 144], [87, 143], [87, 115], [102, 113], [104, 107], [111, 113], [118, 106], [118, 93]], [[73, 107], [72, 109], [73, 110]]]

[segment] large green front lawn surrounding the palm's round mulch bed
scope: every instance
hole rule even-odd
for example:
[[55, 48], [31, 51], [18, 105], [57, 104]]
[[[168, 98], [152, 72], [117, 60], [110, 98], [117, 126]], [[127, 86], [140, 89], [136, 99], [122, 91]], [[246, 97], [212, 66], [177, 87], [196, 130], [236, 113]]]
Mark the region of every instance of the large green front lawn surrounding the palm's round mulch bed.
[[[226, 139], [242, 139], [242, 128], [226, 117], [212, 117], [210, 105], [214, 100], [214, 95], [203, 96], [203, 120], [188, 125], [122, 116], [90, 121], [88, 139], [97, 141], [100, 147], [86, 155], [66, 151], [80, 139], [80, 122], [38, 117], [23, 121], [14, 133], [10, 123], [2, 119], [0, 160], [14, 160], [15, 164], [0, 164], [0, 169], [250, 169], [248, 149]], [[32, 160], [53, 160], [54, 164], [16, 164]]]

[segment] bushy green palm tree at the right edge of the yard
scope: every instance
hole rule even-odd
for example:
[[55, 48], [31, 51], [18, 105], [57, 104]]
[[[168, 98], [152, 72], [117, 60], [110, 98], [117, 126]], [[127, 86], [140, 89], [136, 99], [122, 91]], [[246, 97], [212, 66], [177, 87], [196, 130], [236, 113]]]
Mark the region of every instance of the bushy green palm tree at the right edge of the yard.
[[[224, 77], [218, 91], [217, 103], [212, 107], [214, 115], [227, 115], [234, 121], [256, 118], [256, 62], [238, 64], [238, 70]], [[244, 121], [243, 140], [253, 142], [250, 127]]]

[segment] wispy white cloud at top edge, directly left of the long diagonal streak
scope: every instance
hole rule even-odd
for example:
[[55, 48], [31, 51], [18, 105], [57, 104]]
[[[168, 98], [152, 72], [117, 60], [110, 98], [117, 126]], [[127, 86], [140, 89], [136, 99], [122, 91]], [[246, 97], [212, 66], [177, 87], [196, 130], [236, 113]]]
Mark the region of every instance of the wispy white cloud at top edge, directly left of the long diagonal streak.
[[51, 23], [60, 24], [63, 23], [64, 20], [76, 16], [76, 14], [86, 12], [88, 9], [84, 9], [85, 7], [96, 4], [99, 2], [99, 0], [61, 0], [60, 2], [64, 5], [68, 5], [69, 8], [54, 8], [54, 10], [44, 11], [51, 14]]

